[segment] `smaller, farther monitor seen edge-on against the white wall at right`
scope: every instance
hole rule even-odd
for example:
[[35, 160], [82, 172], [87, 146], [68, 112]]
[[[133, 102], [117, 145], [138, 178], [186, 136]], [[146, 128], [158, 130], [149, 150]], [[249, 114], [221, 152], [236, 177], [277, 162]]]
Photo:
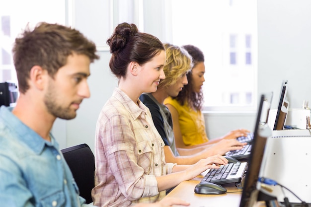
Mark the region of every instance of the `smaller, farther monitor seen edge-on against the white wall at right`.
[[289, 107], [289, 102], [288, 100], [286, 100], [287, 89], [288, 89], [287, 81], [284, 81], [282, 85], [282, 90], [280, 94], [279, 105], [278, 105], [278, 109], [277, 109], [277, 113], [275, 117], [273, 130], [284, 129], [288, 107]]

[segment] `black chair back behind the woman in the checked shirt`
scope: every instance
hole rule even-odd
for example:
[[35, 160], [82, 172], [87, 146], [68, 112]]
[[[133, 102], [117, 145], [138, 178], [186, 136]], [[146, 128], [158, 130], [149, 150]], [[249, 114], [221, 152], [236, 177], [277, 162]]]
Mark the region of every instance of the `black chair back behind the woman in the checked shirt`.
[[78, 185], [80, 196], [87, 204], [92, 203], [91, 191], [94, 187], [94, 154], [85, 143], [61, 150]]

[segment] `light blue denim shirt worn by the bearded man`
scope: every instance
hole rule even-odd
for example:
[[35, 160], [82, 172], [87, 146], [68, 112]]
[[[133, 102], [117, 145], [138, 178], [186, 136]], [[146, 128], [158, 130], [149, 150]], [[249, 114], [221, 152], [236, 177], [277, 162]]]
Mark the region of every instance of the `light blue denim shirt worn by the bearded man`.
[[55, 138], [44, 140], [1, 106], [0, 206], [87, 206], [78, 194]]

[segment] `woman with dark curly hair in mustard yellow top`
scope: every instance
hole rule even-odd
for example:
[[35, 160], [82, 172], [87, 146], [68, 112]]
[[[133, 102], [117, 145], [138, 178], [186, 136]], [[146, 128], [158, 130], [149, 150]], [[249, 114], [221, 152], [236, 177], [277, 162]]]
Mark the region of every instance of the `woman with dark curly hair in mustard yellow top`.
[[190, 54], [194, 64], [191, 72], [187, 73], [188, 84], [184, 85], [176, 97], [169, 96], [163, 102], [172, 116], [176, 147], [192, 148], [216, 143], [221, 139], [247, 136], [248, 130], [239, 129], [229, 132], [224, 137], [209, 140], [201, 111], [203, 105], [202, 85], [205, 81], [204, 55], [199, 48], [193, 45], [182, 47]]

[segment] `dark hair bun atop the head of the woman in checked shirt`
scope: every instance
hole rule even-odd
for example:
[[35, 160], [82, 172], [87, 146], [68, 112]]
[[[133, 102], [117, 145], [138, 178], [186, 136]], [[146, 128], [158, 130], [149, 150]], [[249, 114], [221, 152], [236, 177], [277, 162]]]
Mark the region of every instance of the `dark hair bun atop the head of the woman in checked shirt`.
[[110, 53], [121, 51], [128, 41], [128, 39], [138, 33], [138, 28], [135, 24], [121, 23], [115, 28], [114, 33], [107, 40], [110, 47]]

